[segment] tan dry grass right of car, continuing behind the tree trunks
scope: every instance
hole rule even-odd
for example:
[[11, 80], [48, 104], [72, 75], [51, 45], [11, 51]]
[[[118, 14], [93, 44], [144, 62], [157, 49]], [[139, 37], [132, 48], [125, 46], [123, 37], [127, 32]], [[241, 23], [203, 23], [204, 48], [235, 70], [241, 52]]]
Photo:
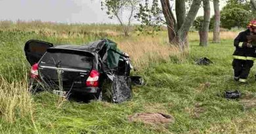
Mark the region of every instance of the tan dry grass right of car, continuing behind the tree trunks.
[[[221, 40], [232, 40], [238, 35], [239, 31], [222, 31]], [[199, 41], [197, 32], [189, 33], [189, 41]], [[209, 32], [209, 42], [213, 40], [213, 32]], [[133, 64], [138, 69], [145, 67], [149, 63], [159, 63], [168, 61], [170, 57], [176, 56], [180, 60], [186, 56], [187, 52], [180, 52], [176, 46], [168, 43], [167, 33], [162, 32], [156, 37], [139, 36], [123, 39], [118, 42], [118, 47], [127, 52]]]

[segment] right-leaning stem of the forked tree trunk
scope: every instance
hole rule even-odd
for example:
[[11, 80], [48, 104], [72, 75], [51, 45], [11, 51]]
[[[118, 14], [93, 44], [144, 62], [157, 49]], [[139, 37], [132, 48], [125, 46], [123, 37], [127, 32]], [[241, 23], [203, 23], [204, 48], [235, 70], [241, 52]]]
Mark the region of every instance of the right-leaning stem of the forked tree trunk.
[[179, 41], [179, 46], [183, 50], [188, 44], [186, 43], [186, 39], [188, 36], [188, 31], [193, 24], [196, 14], [198, 14], [198, 10], [200, 8], [202, 0], [194, 0], [188, 11], [188, 15], [185, 18], [184, 23], [182, 24], [181, 28], [177, 31], [177, 40]]

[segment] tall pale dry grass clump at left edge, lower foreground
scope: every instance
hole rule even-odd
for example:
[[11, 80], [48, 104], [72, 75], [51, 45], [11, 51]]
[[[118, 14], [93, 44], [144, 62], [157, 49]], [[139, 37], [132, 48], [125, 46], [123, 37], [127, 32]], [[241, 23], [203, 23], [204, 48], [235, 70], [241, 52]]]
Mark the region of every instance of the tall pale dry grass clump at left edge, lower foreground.
[[10, 123], [17, 118], [33, 119], [32, 96], [27, 82], [7, 82], [0, 78], [0, 115], [1, 120]]

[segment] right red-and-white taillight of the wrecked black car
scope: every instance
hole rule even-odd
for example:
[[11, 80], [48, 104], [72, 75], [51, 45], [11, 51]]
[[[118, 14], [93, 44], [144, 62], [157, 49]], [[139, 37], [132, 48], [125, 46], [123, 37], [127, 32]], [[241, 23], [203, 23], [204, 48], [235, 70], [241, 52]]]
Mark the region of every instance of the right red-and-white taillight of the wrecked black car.
[[98, 78], [100, 73], [96, 70], [92, 70], [89, 77], [86, 80], [86, 86], [88, 87], [98, 87]]

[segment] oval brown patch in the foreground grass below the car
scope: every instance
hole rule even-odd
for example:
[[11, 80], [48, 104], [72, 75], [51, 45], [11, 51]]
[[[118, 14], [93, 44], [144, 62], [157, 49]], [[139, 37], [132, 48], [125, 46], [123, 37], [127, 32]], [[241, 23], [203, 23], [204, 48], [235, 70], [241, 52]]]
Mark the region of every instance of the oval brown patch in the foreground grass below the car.
[[129, 116], [131, 122], [144, 122], [144, 124], [169, 124], [174, 123], [173, 116], [163, 113], [137, 113]]

